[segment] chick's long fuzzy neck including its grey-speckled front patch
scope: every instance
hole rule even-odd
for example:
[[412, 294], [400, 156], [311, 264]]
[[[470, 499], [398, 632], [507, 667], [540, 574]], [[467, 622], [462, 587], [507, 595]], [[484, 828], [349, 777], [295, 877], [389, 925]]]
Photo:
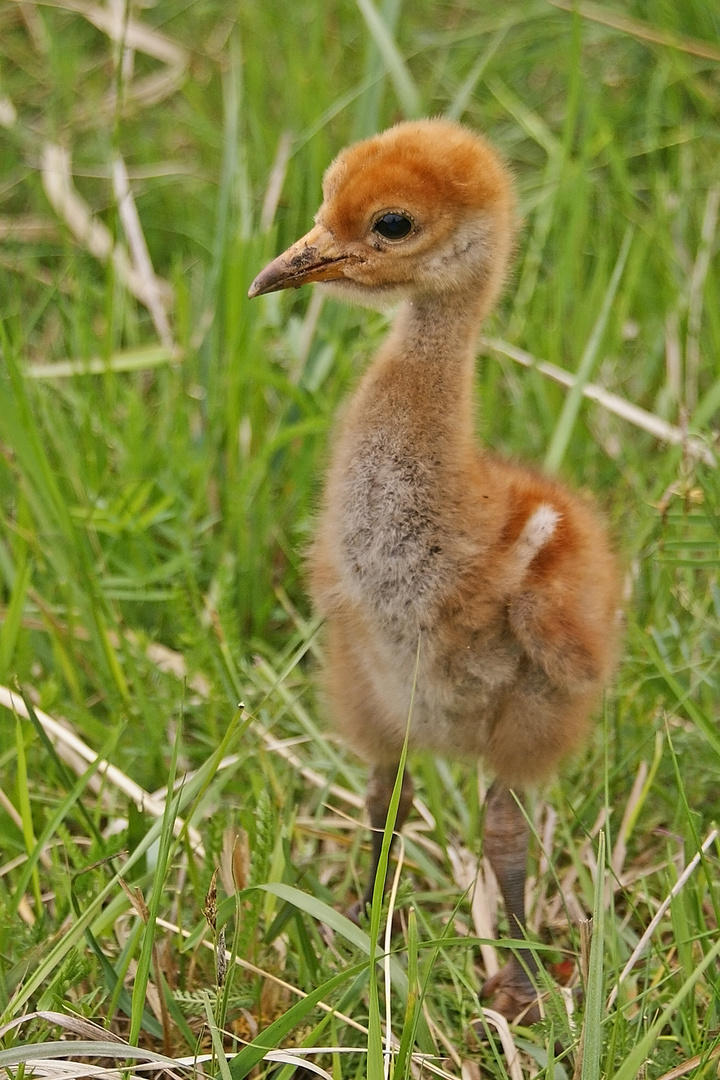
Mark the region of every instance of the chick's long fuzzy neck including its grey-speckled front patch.
[[327, 561], [348, 595], [389, 624], [400, 620], [416, 644], [423, 612], [456, 572], [450, 548], [463, 542], [452, 538], [476, 470], [480, 315], [467, 297], [405, 305], [341, 418], [328, 473], [315, 546], [321, 606], [334, 603]]

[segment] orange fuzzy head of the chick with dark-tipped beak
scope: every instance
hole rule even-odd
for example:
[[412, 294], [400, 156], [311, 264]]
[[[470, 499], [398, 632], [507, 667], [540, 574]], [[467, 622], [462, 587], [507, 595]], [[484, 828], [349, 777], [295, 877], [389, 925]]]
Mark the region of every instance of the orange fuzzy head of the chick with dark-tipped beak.
[[420, 120], [343, 150], [315, 226], [262, 270], [249, 296], [327, 282], [369, 307], [481, 294], [489, 307], [513, 243], [513, 186], [495, 151], [447, 120]]

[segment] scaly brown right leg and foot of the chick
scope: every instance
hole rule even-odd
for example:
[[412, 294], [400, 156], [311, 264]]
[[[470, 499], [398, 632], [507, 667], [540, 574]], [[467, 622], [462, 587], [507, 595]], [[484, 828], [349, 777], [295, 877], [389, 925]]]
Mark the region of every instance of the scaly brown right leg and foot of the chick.
[[[522, 809], [508, 787], [495, 781], [488, 793], [485, 819], [485, 854], [505, 904], [511, 937], [525, 937], [525, 877], [530, 829]], [[538, 993], [531, 975], [538, 962], [529, 948], [518, 948], [497, 975], [483, 986], [483, 997], [493, 997], [492, 1008], [508, 1020], [534, 1024], [540, 1018]]]

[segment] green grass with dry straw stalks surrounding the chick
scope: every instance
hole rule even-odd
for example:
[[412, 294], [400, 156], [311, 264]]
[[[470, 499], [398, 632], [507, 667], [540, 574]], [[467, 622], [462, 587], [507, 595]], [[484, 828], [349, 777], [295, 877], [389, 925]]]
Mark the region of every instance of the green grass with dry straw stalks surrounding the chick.
[[[301, 1061], [334, 1080], [717, 1075], [719, 26], [701, 0], [571, 9], [163, 0], [113, 30], [91, 0], [0, 8], [13, 1075], [83, 1054], [206, 1055], [222, 1080]], [[531, 931], [554, 976], [584, 968], [585, 1001], [485, 1040], [472, 767], [413, 765], [392, 962], [339, 914], [368, 862], [364, 772], [315, 698], [302, 551], [385, 321], [309, 291], [245, 299], [342, 145], [438, 112], [501, 147], [524, 219], [478, 434], [594, 491], [627, 568], [615, 685], [533, 810]]]

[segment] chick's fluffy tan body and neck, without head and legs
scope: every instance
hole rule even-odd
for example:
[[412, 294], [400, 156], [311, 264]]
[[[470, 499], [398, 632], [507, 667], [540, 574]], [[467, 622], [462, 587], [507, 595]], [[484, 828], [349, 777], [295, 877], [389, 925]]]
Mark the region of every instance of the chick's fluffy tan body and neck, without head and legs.
[[612, 558], [588, 507], [475, 448], [465, 373], [400, 337], [343, 416], [311, 553], [334, 714], [363, 757], [396, 761], [417, 663], [411, 747], [525, 784], [574, 748], [609, 674]]

